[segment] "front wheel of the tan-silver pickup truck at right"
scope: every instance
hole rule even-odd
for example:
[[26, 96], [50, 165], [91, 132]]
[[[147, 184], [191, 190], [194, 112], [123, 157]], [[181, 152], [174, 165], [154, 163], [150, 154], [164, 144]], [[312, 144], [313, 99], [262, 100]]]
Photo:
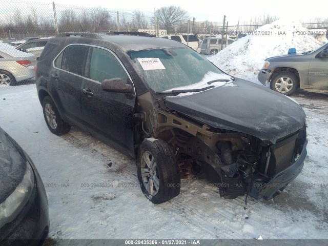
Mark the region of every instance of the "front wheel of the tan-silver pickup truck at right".
[[274, 75], [270, 82], [270, 88], [286, 96], [292, 95], [299, 87], [299, 81], [292, 72], [282, 71]]

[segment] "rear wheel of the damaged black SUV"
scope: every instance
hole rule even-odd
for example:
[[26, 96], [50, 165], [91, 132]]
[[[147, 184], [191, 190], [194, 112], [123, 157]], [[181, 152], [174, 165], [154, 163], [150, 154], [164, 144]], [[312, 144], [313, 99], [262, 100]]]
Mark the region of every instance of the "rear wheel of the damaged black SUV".
[[56, 135], [63, 135], [71, 130], [71, 125], [65, 122], [58, 112], [56, 105], [50, 96], [43, 99], [43, 115], [49, 130]]

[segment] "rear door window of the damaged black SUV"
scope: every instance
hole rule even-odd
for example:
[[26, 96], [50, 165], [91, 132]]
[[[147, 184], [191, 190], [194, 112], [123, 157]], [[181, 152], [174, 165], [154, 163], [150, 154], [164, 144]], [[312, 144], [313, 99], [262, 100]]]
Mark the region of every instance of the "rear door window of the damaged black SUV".
[[[55, 60], [55, 65], [58, 68], [66, 71], [85, 76], [84, 66], [87, 58], [89, 46], [85, 45], [71, 45], [68, 46], [62, 54]], [[60, 62], [61, 60], [61, 62]], [[58, 64], [58, 66], [57, 66]], [[61, 64], [61, 66], [59, 66]]]

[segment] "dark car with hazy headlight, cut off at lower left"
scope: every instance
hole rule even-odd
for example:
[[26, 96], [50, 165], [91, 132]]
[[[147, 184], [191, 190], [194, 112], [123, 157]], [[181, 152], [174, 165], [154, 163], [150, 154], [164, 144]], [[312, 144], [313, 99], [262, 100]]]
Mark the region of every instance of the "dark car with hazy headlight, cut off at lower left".
[[48, 201], [40, 175], [0, 128], [0, 244], [42, 245], [48, 231]]

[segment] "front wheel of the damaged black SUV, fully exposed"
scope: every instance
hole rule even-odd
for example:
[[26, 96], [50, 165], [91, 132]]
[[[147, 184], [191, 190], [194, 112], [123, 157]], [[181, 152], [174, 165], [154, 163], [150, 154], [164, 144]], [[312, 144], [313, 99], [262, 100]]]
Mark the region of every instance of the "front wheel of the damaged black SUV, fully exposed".
[[141, 190], [151, 202], [159, 204], [179, 195], [179, 167], [167, 142], [146, 138], [139, 147], [136, 165]]

